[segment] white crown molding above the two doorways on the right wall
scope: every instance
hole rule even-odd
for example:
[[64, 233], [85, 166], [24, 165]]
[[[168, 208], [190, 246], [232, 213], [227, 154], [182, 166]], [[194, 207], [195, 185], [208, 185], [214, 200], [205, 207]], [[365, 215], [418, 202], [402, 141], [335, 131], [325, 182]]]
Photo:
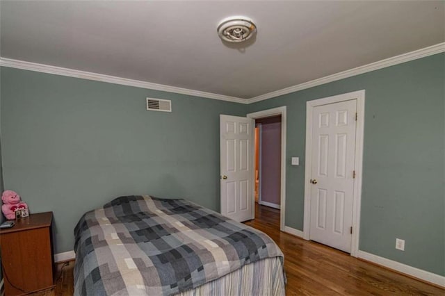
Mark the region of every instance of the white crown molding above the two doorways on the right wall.
[[297, 85], [290, 86], [289, 88], [283, 88], [282, 90], [275, 90], [274, 92], [268, 92], [267, 94], [261, 94], [257, 97], [252, 97], [248, 99], [248, 104], [255, 103], [257, 101], [264, 101], [273, 97], [278, 97], [283, 94], [289, 94], [291, 92], [297, 92], [298, 90], [305, 90], [307, 88], [313, 88], [317, 85], [322, 85], [325, 83], [330, 83], [332, 81], [337, 81], [340, 79], [345, 79], [351, 76], [364, 74], [366, 72], [371, 72], [377, 69], [382, 69], [385, 67], [398, 65], [401, 63], [409, 62], [410, 60], [416, 60], [418, 58], [424, 58], [426, 56], [432, 56], [433, 54], [440, 54], [445, 51], [445, 42], [432, 45], [430, 47], [425, 47], [423, 49], [418, 49], [416, 51], [411, 51], [406, 54], [401, 54], [399, 56], [393, 56], [391, 58], [386, 58], [385, 60], [379, 60], [378, 62], [371, 63], [368, 65], [363, 65], [353, 69], [348, 69], [343, 72], [332, 74], [329, 76], [322, 77], [320, 79], [315, 79], [305, 83], [300, 83]]

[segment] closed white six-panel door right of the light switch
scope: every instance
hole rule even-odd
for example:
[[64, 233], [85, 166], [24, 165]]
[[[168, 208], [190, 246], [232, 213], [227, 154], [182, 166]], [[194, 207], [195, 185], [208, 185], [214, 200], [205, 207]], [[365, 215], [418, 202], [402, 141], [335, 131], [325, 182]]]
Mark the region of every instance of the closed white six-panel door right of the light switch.
[[316, 106], [312, 113], [310, 239], [349, 252], [357, 100]]

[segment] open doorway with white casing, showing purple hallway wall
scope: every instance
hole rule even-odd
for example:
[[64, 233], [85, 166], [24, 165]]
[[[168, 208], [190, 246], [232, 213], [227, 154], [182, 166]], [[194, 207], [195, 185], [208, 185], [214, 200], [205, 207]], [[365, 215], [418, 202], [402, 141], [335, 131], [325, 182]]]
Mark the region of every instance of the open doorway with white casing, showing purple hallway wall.
[[286, 107], [250, 113], [248, 117], [255, 122], [252, 159], [255, 219], [267, 219], [284, 231]]

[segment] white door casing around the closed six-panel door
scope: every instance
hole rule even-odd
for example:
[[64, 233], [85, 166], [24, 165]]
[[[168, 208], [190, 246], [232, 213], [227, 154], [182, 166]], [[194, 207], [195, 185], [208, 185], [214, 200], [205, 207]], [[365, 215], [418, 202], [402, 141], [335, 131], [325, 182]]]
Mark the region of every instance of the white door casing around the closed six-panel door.
[[312, 179], [312, 113], [316, 106], [339, 103], [341, 101], [357, 100], [357, 129], [355, 131], [355, 179], [353, 190], [353, 236], [351, 239], [350, 256], [357, 257], [359, 251], [360, 205], [362, 200], [362, 167], [364, 140], [364, 99], [365, 90], [338, 94], [332, 97], [315, 99], [306, 102], [306, 156], [305, 156], [305, 216], [303, 238], [310, 240], [311, 222], [311, 186]]

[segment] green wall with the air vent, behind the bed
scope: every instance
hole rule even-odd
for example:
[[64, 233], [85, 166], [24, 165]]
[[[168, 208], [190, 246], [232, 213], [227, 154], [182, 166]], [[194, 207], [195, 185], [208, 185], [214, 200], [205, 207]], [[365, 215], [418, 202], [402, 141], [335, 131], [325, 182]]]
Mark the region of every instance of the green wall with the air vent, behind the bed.
[[[172, 100], [172, 113], [145, 98]], [[7, 189], [53, 211], [55, 252], [81, 215], [120, 195], [186, 197], [219, 211], [219, 115], [246, 105], [1, 67]]]

